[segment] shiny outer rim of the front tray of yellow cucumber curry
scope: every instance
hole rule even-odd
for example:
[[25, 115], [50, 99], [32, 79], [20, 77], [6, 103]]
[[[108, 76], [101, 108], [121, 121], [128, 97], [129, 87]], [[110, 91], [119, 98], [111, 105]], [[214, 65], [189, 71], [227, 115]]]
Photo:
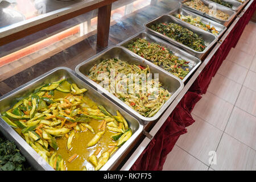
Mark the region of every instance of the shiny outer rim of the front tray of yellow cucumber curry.
[[[68, 72], [69, 74], [71, 74], [73, 77], [76, 77], [78, 80], [80, 80], [81, 82], [83, 82], [83, 84], [85, 84], [86, 86], [88, 86], [88, 88], [90, 88], [91, 90], [93, 90], [94, 92], [97, 92], [98, 94], [102, 95], [101, 93], [99, 93], [97, 90], [95, 90], [88, 82], [86, 82], [84, 79], [81, 78], [81, 76], [77, 75], [76, 72], [72, 71], [72, 69], [67, 68], [67, 67], [57, 67], [52, 69], [51, 71], [48, 71], [46, 73], [44, 73], [43, 75], [40, 75], [36, 78], [34, 78], [31, 81], [26, 82], [25, 84], [19, 86], [18, 88], [11, 90], [9, 93], [4, 94], [3, 96], [0, 97], [0, 102], [10, 96], [15, 96], [15, 93], [19, 92], [20, 90], [27, 88], [28, 86], [34, 84], [35, 82], [38, 82], [39, 80], [42, 80], [44, 78], [46, 78], [47, 76], [50, 76], [51, 74], [55, 73], [56, 71], [59, 70], [64, 70], [66, 72]], [[102, 97], [105, 97], [104, 95], [102, 95]], [[109, 100], [110, 102], [112, 102], [108, 97], [105, 97], [106, 100]], [[117, 150], [117, 152], [115, 152], [115, 154], [108, 160], [108, 162], [100, 169], [100, 171], [106, 171], [108, 170], [110, 167], [112, 167], [112, 165], [114, 164], [114, 162], [119, 159], [123, 153], [125, 152], [125, 150], [130, 147], [131, 143], [134, 142], [134, 140], [139, 136], [139, 134], [142, 133], [143, 131], [143, 125], [142, 125], [142, 121], [141, 119], [135, 117], [134, 115], [130, 114], [129, 112], [127, 112], [125, 109], [123, 109], [121, 106], [115, 104], [114, 102], [111, 103], [112, 105], [118, 107], [118, 109], [121, 109], [122, 111], [124, 111], [126, 114], [130, 115], [130, 117], [133, 117], [135, 119], [136, 122], [138, 122], [138, 127], [137, 130], [134, 131], [133, 135], [131, 135], [131, 140], [130, 142], [126, 142], [125, 144], [123, 144], [122, 147], [119, 148], [119, 150]], [[55, 171], [47, 162], [45, 162], [45, 160], [18, 134], [16, 133], [16, 131], [10, 126], [8, 125], [0, 116], [0, 130], [2, 131], [2, 133], [5, 135], [5, 133], [8, 133], [9, 135], [5, 137], [7, 138], [11, 138], [14, 140], [15, 144], [17, 144], [17, 146], [22, 146], [22, 149], [24, 149], [24, 151], [26, 151], [31, 157], [32, 159], [34, 159], [34, 162], [36, 163], [36, 165], [42, 167], [43, 170], [46, 171]], [[23, 147], [24, 146], [24, 147]], [[42, 163], [41, 163], [42, 162]], [[41, 169], [41, 168], [40, 168]]]

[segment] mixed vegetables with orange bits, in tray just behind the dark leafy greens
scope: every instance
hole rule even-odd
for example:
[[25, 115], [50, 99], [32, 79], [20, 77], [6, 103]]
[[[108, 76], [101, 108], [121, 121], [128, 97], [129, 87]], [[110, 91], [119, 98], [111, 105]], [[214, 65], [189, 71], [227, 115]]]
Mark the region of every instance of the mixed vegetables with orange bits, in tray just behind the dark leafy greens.
[[176, 18], [179, 18], [181, 20], [183, 20], [184, 22], [187, 22], [189, 24], [192, 24], [193, 26], [199, 27], [202, 30], [211, 32], [214, 35], [218, 35], [219, 32], [216, 30], [215, 27], [211, 27], [210, 23], [209, 24], [205, 24], [203, 22], [201, 22], [201, 18], [199, 16], [196, 16], [195, 18], [192, 15], [181, 15], [181, 14], [176, 14], [175, 15]]

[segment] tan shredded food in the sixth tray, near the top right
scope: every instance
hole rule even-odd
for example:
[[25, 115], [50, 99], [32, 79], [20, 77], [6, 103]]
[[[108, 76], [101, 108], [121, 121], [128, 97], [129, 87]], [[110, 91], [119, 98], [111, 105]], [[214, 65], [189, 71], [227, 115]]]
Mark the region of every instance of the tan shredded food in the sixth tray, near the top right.
[[206, 13], [210, 16], [213, 16], [218, 19], [227, 20], [229, 19], [229, 14], [224, 13], [221, 10], [214, 11], [212, 9], [209, 9], [208, 6], [204, 5], [204, 3], [200, 0], [191, 0], [184, 3], [184, 5], [187, 5], [193, 9], [199, 10], [203, 13]]

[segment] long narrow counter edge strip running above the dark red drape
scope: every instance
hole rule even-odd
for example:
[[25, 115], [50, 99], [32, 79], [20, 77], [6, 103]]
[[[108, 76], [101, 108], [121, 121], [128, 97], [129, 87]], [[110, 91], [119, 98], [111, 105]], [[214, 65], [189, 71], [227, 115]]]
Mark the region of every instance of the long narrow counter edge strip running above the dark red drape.
[[[250, 7], [251, 3], [253, 1], [250, 1], [246, 6], [244, 10], [247, 10], [248, 7]], [[245, 11], [242, 11], [240, 14], [243, 14]], [[237, 24], [240, 17], [238, 16], [234, 22], [230, 25], [228, 30], [226, 30], [225, 34], [222, 36], [221, 40], [222, 42], [225, 40], [225, 38], [229, 35], [230, 31], [233, 29], [233, 27]], [[164, 112], [162, 117], [158, 120], [158, 122], [155, 124], [155, 126], [151, 129], [149, 134], [151, 134], [153, 137], [157, 133], [157, 131], [160, 129], [160, 127], [163, 125], [163, 123], [166, 121], [172, 110], [175, 109], [177, 104], [179, 104], [180, 100], [183, 98], [185, 93], [187, 93], [190, 86], [193, 84], [193, 82], [196, 80], [196, 78], [200, 75], [201, 71], [205, 68], [205, 66], [208, 64], [214, 53], [217, 51], [217, 49], [220, 47], [221, 43], [217, 43], [216, 46], [212, 49], [212, 51], [209, 53], [209, 55], [206, 57], [204, 62], [200, 65], [199, 69], [194, 73], [194, 75], [191, 77], [191, 79], [187, 82], [187, 84], [184, 86], [184, 88], [181, 90], [181, 92], [178, 94], [178, 96], [175, 98], [175, 100], [172, 102], [172, 104], [168, 107], [168, 109]], [[131, 154], [130, 158], [127, 160], [127, 162], [122, 166], [121, 171], [128, 171], [133, 164], [136, 162], [136, 160], [139, 158], [139, 156], [142, 154], [144, 149], [147, 147], [148, 143], [150, 143], [150, 139], [145, 137], [141, 144], [139, 144], [137, 150]]]

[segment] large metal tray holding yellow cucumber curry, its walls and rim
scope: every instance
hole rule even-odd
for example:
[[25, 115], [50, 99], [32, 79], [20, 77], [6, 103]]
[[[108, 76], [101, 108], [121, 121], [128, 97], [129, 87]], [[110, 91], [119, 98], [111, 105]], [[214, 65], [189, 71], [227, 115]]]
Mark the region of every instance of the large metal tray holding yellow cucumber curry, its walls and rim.
[[[108, 111], [112, 114], [115, 114], [116, 110], [119, 110], [120, 113], [127, 119], [131, 130], [133, 130], [133, 135], [122, 147], [120, 147], [115, 154], [108, 160], [108, 162], [101, 168], [102, 171], [109, 170], [117, 159], [119, 159], [123, 152], [130, 147], [131, 143], [138, 137], [139, 134], [142, 133], [143, 126], [141, 125], [139, 119], [136, 119], [121, 107], [115, 105], [112, 101], [108, 100], [108, 98], [102, 96], [101, 93], [94, 90], [91, 86], [86, 83], [79, 75], [73, 72], [69, 68], [59, 67], [55, 68], [52, 71], [45, 73], [42, 76], [35, 78], [34, 80], [27, 82], [26, 84], [19, 86], [19, 88], [14, 89], [13, 91], [5, 94], [4, 96], [0, 97], [0, 112], [6, 111], [10, 109], [10, 105], [13, 102], [14, 98], [23, 96], [26, 93], [32, 92], [38, 86], [48, 83], [58, 81], [62, 78], [68, 78], [68, 80], [72, 80], [79, 86], [80, 88], [86, 88], [88, 91], [86, 92], [86, 96], [92, 98], [94, 102], [97, 104], [103, 105], [104, 107], [108, 108]], [[9, 126], [3, 119], [0, 117], [0, 130], [2, 133], [9, 139], [13, 140], [17, 147], [20, 149], [22, 154], [27, 158], [28, 162], [30, 162], [31, 166], [38, 170], [54, 170], [48, 163], [44, 161], [41, 156], [29, 145], [27, 142], [20, 137], [16, 131]]]

